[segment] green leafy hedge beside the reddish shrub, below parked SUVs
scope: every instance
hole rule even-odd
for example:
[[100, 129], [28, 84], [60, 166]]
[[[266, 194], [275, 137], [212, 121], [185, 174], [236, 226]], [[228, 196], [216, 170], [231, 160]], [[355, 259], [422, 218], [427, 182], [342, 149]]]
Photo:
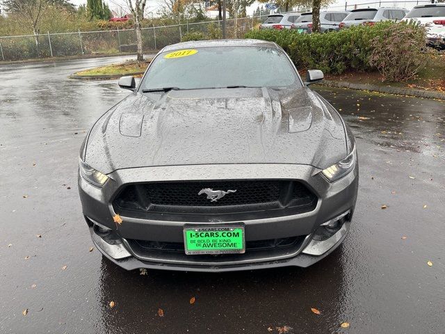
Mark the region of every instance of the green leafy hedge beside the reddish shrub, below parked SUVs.
[[[394, 25], [393, 22], [381, 22], [375, 26], [353, 26], [350, 29], [329, 33], [298, 33], [296, 30], [252, 30], [245, 38], [269, 40], [280, 45], [299, 69], [316, 68], [325, 73], [341, 74], [347, 69], [370, 70], [369, 59], [376, 46], [373, 40], [385, 36]], [[398, 33], [406, 30], [423, 29], [413, 24], [401, 25]], [[419, 46], [425, 47], [425, 44]]]

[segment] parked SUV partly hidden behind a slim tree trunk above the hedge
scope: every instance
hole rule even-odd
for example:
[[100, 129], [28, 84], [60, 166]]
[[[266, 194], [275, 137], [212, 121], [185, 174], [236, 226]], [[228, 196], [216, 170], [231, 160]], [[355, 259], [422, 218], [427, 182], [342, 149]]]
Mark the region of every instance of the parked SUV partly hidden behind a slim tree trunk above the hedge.
[[[346, 10], [324, 10], [320, 13], [320, 28], [321, 32], [338, 31], [339, 24], [348, 16], [350, 12]], [[303, 13], [296, 22], [291, 26], [291, 29], [298, 29], [298, 31], [312, 33], [312, 13]]]

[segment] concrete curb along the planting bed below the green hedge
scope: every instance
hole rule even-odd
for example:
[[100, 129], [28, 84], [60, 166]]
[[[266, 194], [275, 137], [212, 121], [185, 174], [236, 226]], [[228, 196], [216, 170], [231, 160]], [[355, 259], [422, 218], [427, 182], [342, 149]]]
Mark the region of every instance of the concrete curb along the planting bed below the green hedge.
[[371, 84], [351, 84], [350, 82], [346, 81], [333, 81], [333, 80], [323, 80], [317, 84], [320, 86], [349, 88], [355, 90], [370, 90], [372, 92], [379, 92], [379, 93], [408, 95], [414, 97], [423, 97], [426, 99], [445, 100], [445, 93], [432, 92], [430, 90], [420, 90], [420, 89], [390, 87], [390, 86], [377, 86]]

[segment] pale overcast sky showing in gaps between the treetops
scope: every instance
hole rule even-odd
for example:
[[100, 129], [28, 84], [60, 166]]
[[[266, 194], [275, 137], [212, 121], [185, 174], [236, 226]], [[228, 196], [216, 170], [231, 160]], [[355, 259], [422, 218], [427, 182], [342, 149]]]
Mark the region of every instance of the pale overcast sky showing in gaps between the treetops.
[[[124, 8], [127, 8], [125, 6], [125, 0], [104, 0], [105, 3], [108, 4], [108, 6], [110, 6], [111, 10], [113, 10], [114, 8], [118, 8], [119, 6], [122, 6]], [[378, 7], [379, 2], [375, 2], [375, 4], [369, 4], [369, 5], [365, 5], [364, 3], [370, 3], [373, 2], [375, 0], [336, 0], [334, 3], [332, 3], [332, 5], [330, 6], [330, 8], [332, 9], [341, 9], [345, 7], [345, 3], [348, 3], [348, 9], [353, 9], [352, 7], [350, 7], [350, 5], [353, 4], [357, 4], [358, 8], [366, 8], [366, 7]], [[394, 1], [394, 3], [385, 3], [384, 6], [394, 6], [394, 7], [402, 7], [402, 8], [407, 8], [407, 9], [411, 9], [412, 7], [414, 7], [416, 5], [415, 1]], [[76, 6], [79, 6], [83, 3], [86, 3], [86, 0], [70, 0], [71, 3], [74, 3]], [[273, 2], [273, 1], [270, 1]], [[147, 8], [148, 8], [148, 12], [153, 11], [154, 13], [157, 12], [157, 10], [162, 6], [163, 0], [147, 0]], [[259, 3], [255, 2], [252, 6], [250, 6], [250, 8], [248, 8], [247, 13], [248, 15], [252, 14], [252, 12], [259, 6]]]

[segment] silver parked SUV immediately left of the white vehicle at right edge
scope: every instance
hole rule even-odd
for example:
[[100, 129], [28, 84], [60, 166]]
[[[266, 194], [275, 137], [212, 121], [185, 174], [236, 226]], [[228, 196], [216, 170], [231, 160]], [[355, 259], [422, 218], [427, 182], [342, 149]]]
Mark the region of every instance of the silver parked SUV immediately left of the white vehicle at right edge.
[[351, 10], [351, 13], [340, 23], [340, 29], [358, 26], [359, 24], [372, 26], [381, 21], [401, 21], [408, 13], [405, 8], [380, 7]]

